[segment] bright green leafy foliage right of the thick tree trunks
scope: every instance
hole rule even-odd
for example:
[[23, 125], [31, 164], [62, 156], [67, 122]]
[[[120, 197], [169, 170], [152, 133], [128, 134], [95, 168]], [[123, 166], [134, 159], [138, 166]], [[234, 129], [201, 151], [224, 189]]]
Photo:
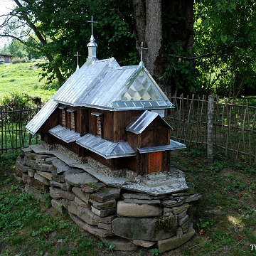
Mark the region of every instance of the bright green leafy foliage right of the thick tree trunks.
[[[198, 1], [195, 4], [198, 82], [207, 94], [233, 96], [254, 88], [255, 80], [255, 1]], [[252, 90], [255, 92], [255, 90]]]

